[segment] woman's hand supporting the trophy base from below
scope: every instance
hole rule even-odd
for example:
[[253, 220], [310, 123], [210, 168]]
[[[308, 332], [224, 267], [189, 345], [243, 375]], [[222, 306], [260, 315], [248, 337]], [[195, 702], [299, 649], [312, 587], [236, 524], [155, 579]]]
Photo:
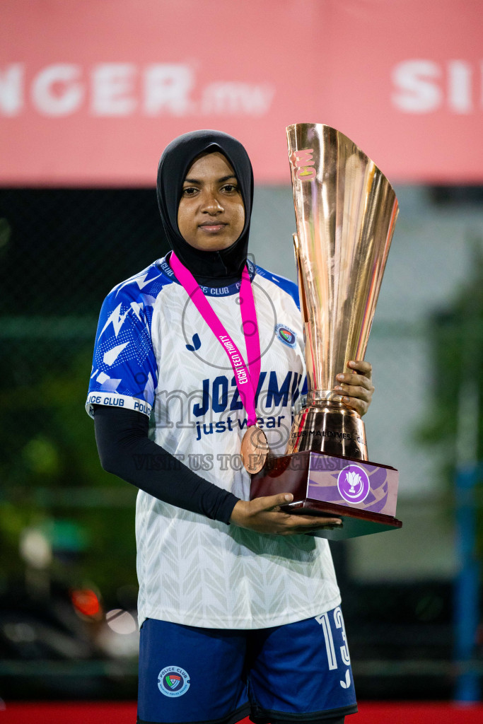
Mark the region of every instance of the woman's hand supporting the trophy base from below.
[[239, 500], [233, 508], [230, 523], [257, 533], [291, 536], [320, 529], [342, 526], [340, 518], [319, 515], [293, 515], [280, 510], [281, 505], [293, 500], [291, 493], [279, 493], [254, 500]]

